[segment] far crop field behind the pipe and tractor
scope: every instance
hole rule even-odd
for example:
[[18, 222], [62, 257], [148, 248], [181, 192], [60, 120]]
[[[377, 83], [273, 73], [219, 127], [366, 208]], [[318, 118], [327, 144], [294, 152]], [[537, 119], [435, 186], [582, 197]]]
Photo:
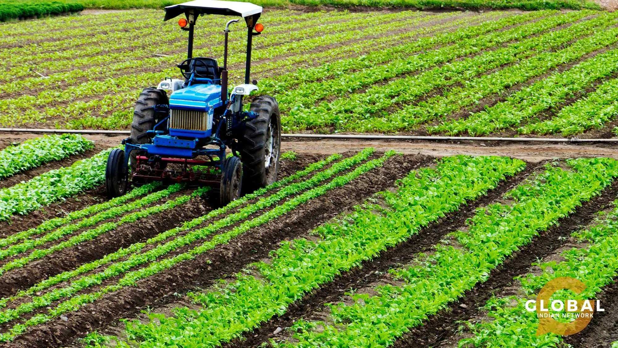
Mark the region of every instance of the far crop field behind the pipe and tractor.
[[[613, 137], [616, 13], [271, 10], [252, 74], [284, 133]], [[142, 86], [179, 77], [185, 35], [161, 18], [57, 17], [36, 35], [0, 25], [0, 126], [129, 129]], [[220, 58], [224, 19], [207, 20], [196, 51]]]

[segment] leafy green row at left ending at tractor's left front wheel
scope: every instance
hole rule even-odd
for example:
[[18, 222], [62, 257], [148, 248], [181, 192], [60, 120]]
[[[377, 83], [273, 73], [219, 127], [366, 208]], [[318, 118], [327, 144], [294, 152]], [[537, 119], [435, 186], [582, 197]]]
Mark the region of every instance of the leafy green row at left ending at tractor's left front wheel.
[[0, 189], [0, 220], [26, 214], [59, 199], [98, 186], [105, 177], [111, 149], [78, 160], [70, 167], [50, 170], [28, 181]]

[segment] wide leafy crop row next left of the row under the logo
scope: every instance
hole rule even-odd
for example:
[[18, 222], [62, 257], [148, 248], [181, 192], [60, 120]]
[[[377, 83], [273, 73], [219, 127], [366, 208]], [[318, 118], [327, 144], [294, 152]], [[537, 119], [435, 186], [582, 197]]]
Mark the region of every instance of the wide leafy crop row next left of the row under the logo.
[[[567, 165], [572, 169], [547, 165], [543, 173], [503, 196], [512, 203], [478, 209], [466, 228], [436, 245], [434, 253], [419, 254], [412, 266], [392, 269], [391, 276], [402, 285], [379, 286], [371, 289], [377, 295], [355, 294], [353, 304], [332, 305], [331, 320], [341, 324], [300, 320], [293, 326], [295, 341], [276, 346], [392, 344], [409, 328], [422, 324], [478, 282], [485, 282], [512, 253], [601, 193], [618, 176], [618, 161], [613, 159], [567, 160]], [[315, 330], [318, 325], [319, 331]]]

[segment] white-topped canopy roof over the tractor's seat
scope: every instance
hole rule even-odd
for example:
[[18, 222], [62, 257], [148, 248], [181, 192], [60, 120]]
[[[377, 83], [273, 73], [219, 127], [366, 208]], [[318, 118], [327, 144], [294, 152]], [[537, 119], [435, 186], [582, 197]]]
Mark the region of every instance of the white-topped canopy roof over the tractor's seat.
[[201, 14], [221, 14], [221, 15], [239, 15], [247, 17], [262, 12], [262, 7], [252, 4], [251, 2], [240, 1], [221, 1], [221, 0], [194, 0], [183, 2], [182, 4], [166, 6], [165, 18], [168, 20], [176, 17], [179, 14], [193, 9], [194, 15]]

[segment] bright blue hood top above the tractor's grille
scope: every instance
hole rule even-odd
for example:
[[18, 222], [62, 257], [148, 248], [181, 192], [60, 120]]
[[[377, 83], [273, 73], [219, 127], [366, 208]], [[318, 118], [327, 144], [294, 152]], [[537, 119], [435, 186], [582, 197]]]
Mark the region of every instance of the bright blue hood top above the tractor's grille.
[[211, 107], [218, 108], [221, 105], [223, 103], [220, 85], [190, 85], [184, 89], [175, 90], [169, 96], [169, 108], [171, 109], [208, 111]]

